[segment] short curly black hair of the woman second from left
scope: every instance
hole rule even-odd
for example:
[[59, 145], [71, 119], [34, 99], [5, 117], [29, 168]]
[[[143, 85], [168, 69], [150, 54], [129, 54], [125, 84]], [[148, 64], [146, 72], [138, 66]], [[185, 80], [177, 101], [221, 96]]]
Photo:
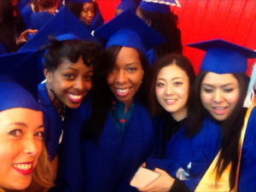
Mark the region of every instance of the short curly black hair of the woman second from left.
[[90, 67], [96, 63], [102, 51], [99, 44], [91, 41], [79, 39], [58, 41], [55, 38], [50, 38], [49, 45], [44, 49], [49, 49], [44, 55], [44, 68], [50, 72], [55, 71], [64, 59], [77, 62], [80, 55], [83, 57], [84, 64]]

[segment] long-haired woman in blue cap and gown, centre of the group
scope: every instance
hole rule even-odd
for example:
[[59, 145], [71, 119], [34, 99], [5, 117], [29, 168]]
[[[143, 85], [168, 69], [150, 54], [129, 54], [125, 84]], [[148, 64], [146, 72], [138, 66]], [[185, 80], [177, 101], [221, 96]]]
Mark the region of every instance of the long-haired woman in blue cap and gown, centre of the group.
[[151, 67], [145, 52], [163, 38], [130, 10], [97, 29], [95, 36], [108, 44], [95, 66], [88, 100], [69, 112], [56, 191], [133, 191], [131, 177], [151, 153]]

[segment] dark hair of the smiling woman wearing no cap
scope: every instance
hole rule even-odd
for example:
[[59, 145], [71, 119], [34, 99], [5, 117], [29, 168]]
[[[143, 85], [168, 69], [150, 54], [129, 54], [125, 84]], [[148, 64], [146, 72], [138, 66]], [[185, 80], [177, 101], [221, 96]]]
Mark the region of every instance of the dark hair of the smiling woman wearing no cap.
[[156, 61], [153, 66], [153, 79], [148, 97], [149, 112], [152, 116], [161, 115], [165, 112], [165, 109], [161, 107], [155, 96], [155, 85], [157, 76], [160, 73], [161, 68], [171, 65], [177, 65], [177, 67], [180, 67], [187, 74], [187, 76], [189, 77], [189, 92], [192, 89], [192, 85], [194, 84], [195, 71], [187, 57], [178, 53], [172, 53], [160, 57], [160, 59]]

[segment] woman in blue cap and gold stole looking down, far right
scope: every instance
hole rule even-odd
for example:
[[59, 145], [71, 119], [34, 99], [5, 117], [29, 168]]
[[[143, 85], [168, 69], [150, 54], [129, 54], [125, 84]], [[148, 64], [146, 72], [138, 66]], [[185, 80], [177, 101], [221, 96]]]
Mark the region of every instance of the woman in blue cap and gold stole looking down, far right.
[[255, 58], [256, 54], [251, 49], [222, 39], [189, 46], [206, 50], [207, 54], [191, 95], [191, 115], [185, 133], [188, 137], [195, 136], [206, 116], [217, 121], [223, 132], [219, 153], [196, 191], [253, 191], [256, 187], [252, 180], [255, 177], [252, 170], [256, 166], [253, 163], [255, 131], [252, 128], [255, 110], [250, 113], [252, 108], [247, 110], [243, 106], [249, 82], [247, 58]]

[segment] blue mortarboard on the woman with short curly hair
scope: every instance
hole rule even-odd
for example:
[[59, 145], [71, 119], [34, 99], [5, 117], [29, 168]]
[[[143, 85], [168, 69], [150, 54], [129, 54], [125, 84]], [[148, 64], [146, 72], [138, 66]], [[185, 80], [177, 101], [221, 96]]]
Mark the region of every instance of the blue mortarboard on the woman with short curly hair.
[[44, 44], [47, 44], [49, 35], [53, 37], [60, 36], [61, 34], [71, 33], [74, 36], [96, 42], [86, 27], [76, 18], [73, 13], [65, 6], [51, 18], [29, 42], [21, 47], [20, 51], [27, 49], [38, 49]]

